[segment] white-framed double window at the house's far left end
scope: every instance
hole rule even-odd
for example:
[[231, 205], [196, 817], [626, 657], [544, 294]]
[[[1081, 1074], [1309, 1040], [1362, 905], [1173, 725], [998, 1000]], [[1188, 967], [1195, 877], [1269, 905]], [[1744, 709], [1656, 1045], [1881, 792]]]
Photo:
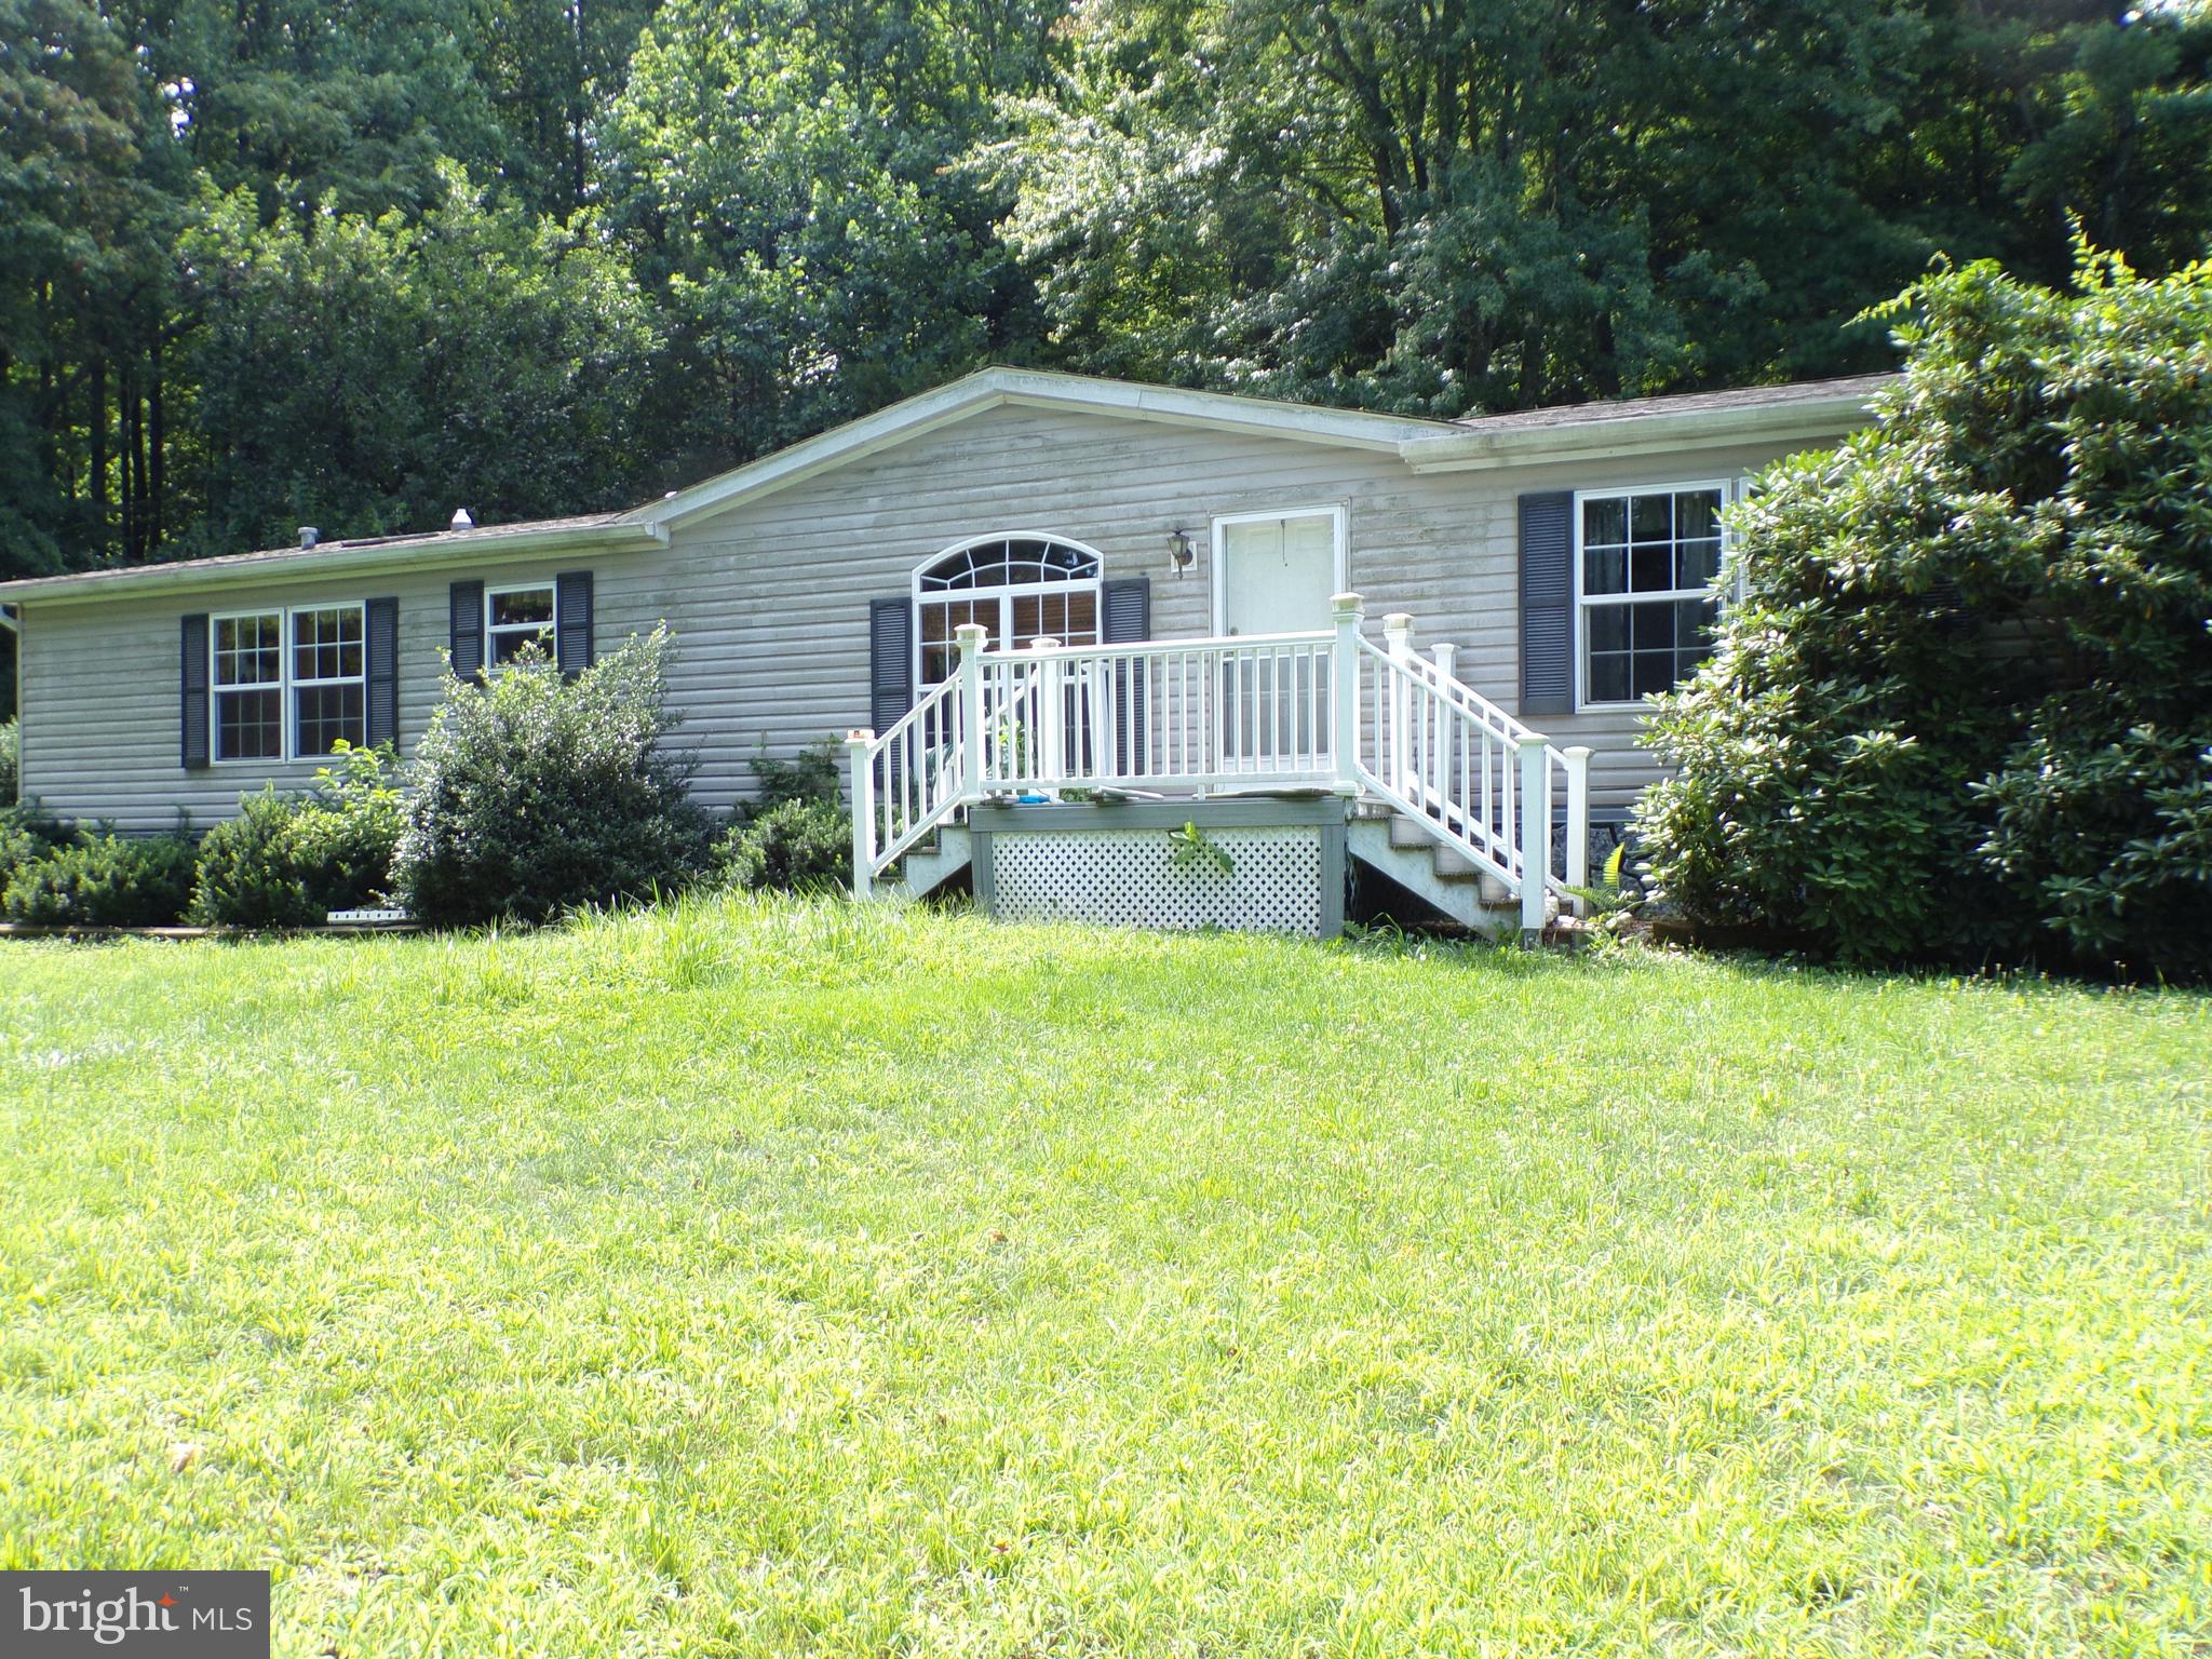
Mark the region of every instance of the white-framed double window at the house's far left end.
[[[330, 754], [367, 741], [361, 604], [212, 617], [217, 761]], [[285, 726], [290, 710], [290, 748]]]

